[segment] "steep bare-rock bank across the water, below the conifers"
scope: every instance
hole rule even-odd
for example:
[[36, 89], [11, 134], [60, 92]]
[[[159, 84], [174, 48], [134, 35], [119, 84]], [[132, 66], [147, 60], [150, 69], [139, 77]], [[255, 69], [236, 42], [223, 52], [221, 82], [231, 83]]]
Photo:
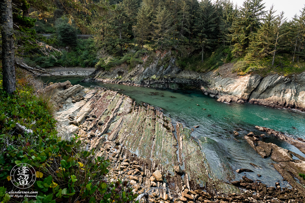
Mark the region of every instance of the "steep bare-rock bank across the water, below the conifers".
[[240, 76], [232, 73], [233, 64], [225, 64], [216, 70], [198, 73], [179, 68], [172, 55], [171, 51], [157, 51], [153, 60], [145, 56], [142, 58], [143, 64], [131, 70], [126, 64], [109, 71], [96, 69], [84, 81], [170, 89], [187, 84], [200, 86], [203, 93], [220, 98], [220, 101], [241, 100], [240, 103], [305, 110], [305, 72], [289, 76]]

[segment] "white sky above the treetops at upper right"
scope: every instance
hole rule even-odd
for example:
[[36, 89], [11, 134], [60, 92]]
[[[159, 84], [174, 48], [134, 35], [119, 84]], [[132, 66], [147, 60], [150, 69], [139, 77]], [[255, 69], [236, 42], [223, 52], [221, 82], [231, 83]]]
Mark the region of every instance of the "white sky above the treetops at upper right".
[[[242, 6], [244, 0], [231, 0], [234, 5], [237, 3], [238, 6]], [[304, 0], [263, 0], [266, 6], [266, 10], [269, 10], [271, 5], [274, 5], [274, 10], [277, 10], [276, 15], [280, 12], [285, 12], [287, 20], [291, 20], [295, 14], [300, 15], [300, 10], [304, 8]]]

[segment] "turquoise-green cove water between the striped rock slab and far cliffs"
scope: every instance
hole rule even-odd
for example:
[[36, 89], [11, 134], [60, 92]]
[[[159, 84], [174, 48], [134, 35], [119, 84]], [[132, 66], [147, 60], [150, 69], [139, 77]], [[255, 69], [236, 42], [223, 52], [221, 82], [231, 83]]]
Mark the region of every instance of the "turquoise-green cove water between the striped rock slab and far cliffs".
[[[256, 174], [259, 173], [262, 175], [260, 180], [271, 186], [274, 186], [275, 181], [282, 180], [279, 173], [270, 165], [273, 161], [269, 158], [262, 159], [242, 138], [250, 131], [257, 135], [262, 134], [255, 129], [256, 125], [282, 131], [289, 136], [305, 138], [305, 114], [296, 110], [274, 109], [249, 103], [221, 103], [215, 98], [204, 95], [199, 89], [174, 91], [109, 83], [83, 83], [79, 82], [81, 80], [79, 77], [43, 78], [44, 81], [49, 82], [63, 82], [67, 79], [72, 84], [113, 89], [130, 96], [137, 103], [149, 103], [160, 107], [163, 113], [172, 118], [173, 122], [181, 122], [188, 128], [199, 125], [199, 128], [195, 128], [192, 132], [192, 136], [200, 141], [202, 151], [214, 173], [223, 180], [230, 179], [223, 168], [228, 170], [249, 168], [255, 172], [255, 174], [247, 173], [249, 178], [257, 179]], [[233, 131], [238, 131], [239, 136], [234, 136]], [[266, 141], [276, 142], [285, 149], [305, 156], [294, 146], [285, 142], [274, 138], [266, 139]], [[261, 169], [255, 169], [249, 163], [254, 163]], [[240, 179], [244, 174], [235, 175], [235, 177], [232, 176], [233, 180]]]

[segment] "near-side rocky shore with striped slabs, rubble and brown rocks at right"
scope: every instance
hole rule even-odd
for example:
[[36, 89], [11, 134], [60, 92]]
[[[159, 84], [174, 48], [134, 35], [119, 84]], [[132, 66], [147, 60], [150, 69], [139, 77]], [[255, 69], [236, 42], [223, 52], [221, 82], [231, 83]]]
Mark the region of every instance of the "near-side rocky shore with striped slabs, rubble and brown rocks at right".
[[[296, 174], [296, 169], [305, 173], [305, 158], [274, 144], [264, 144], [254, 133], [245, 139], [260, 155], [262, 148], [266, 156], [277, 161], [274, 168], [293, 188], [281, 188], [278, 183], [275, 187], [267, 187], [259, 180], [250, 180], [246, 174], [242, 180], [231, 183], [219, 180], [200, 145], [192, 138], [192, 129], [181, 123], [174, 125], [160, 110], [148, 104], [138, 106], [128, 96], [115, 91], [84, 89], [80, 85], [72, 86], [69, 81], [55, 83], [40, 91], [50, 94], [57, 106], [55, 117], [59, 135], [67, 138], [77, 133], [88, 149], [95, 149], [96, 156], [105, 156], [112, 161], [109, 178], [127, 178], [139, 197], [148, 201], [304, 202], [304, 187], [298, 185], [304, 185], [304, 182], [300, 179], [300, 183], [293, 181], [298, 177], [290, 173]], [[286, 137], [268, 128], [257, 128], [304, 149], [303, 140]], [[269, 150], [270, 146], [262, 147], [265, 145], [270, 145], [272, 150]], [[285, 151], [285, 156], [277, 156], [279, 153], [275, 149]], [[269, 154], [268, 150], [272, 152]], [[291, 154], [300, 160], [281, 160], [291, 158]], [[235, 172], [228, 173], [234, 175]]]

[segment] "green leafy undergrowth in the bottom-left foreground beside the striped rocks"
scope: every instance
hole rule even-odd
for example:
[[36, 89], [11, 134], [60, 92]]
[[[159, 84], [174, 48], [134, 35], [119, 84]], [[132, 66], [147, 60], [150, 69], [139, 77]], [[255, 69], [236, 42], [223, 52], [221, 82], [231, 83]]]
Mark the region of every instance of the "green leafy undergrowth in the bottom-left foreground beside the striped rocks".
[[[111, 181], [111, 163], [84, 149], [79, 137], [57, 137], [56, 120], [48, 100], [35, 96], [31, 86], [18, 85], [7, 94], [0, 75], [0, 202], [132, 202], [137, 197], [127, 181]], [[18, 130], [21, 125], [31, 132]], [[36, 181], [24, 191], [37, 191], [36, 198], [10, 197], [18, 191], [10, 172], [17, 164], [34, 167]]]

